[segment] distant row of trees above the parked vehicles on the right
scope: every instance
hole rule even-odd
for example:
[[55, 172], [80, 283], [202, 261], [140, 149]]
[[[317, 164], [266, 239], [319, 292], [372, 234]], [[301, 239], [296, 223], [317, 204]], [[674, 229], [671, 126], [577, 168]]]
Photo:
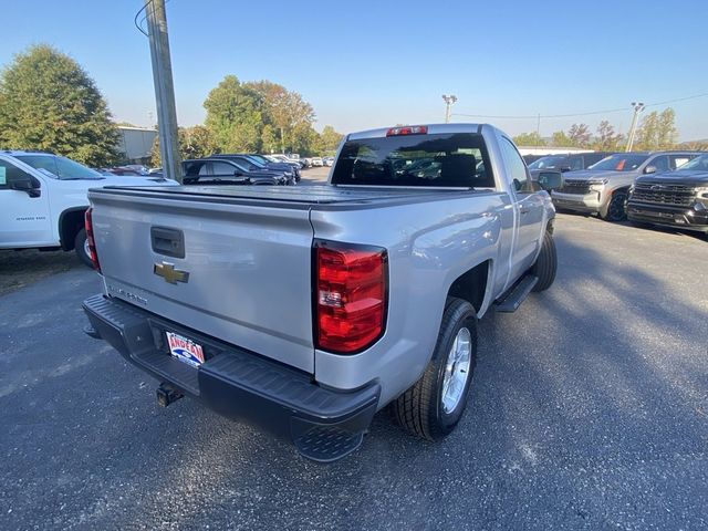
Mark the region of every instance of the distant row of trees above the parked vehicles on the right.
[[[677, 144], [678, 129], [675, 119], [676, 113], [671, 107], [660, 113], [653, 111], [644, 115], [635, 134], [633, 149], [708, 148], [708, 145], [702, 143]], [[600, 122], [594, 135], [587, 124], [573, 124], [568, 132], [556, 131], [550, 138], [543, 138], [538, 132], [533, 132], [517, 135], [513, 140], [519, 146], [580, 147], [596, 152], [623, 152], [627, 145], [627, 137], [616, 133], [607, 119]]]

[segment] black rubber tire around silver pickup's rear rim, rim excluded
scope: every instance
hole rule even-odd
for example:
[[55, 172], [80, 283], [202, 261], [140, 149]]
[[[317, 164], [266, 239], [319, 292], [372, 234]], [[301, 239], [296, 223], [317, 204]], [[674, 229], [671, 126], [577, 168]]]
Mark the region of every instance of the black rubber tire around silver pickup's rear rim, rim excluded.
[[[467, 381], [461, 398], [451, 412], [442, 403], [442, 382], [450, 348], [461, 329], [470, 333], [471, 354]], [[433, 358], [425, 373], [408, 391], [392, 404], [396, 421], [407, 431], [427, 440], [438, 440], [448, 435], [459, 423], [467, 406], [467, 397], [477, 357], [477, 313], [461, 299], [448, 299]]]

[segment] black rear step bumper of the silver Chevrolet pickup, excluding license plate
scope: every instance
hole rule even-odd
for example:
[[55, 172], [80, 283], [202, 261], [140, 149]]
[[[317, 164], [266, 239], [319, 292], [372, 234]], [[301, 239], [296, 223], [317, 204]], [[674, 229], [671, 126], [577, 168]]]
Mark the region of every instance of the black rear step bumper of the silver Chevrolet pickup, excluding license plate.
[[[305, 457], [332, 461], [355, 450], [376, 413], [376, 383], [325, 389], [312, 376], [163, 320], [121, 300], [95, 295], [84, 311], [96, 333], [126, 360], [211, 409], [290, 438]], [[165, 332], [202, 345], [198, 368], [169, 355]]]

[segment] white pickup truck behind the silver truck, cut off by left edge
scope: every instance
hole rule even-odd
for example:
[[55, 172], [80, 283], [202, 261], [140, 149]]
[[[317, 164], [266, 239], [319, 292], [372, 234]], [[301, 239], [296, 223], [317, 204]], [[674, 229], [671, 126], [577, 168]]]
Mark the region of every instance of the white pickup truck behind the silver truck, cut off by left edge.
[[102, 186], [177, 185], [162, 177], [104, 176], [45, 152], [0, 150], [0, 249], [76, 250], [91, 267], [84, 212]]

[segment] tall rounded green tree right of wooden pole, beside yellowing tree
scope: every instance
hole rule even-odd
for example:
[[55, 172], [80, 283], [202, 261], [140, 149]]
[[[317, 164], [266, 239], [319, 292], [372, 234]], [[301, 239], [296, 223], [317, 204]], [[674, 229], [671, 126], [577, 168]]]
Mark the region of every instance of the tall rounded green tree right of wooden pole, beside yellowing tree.
[[236, 75], [227, 75], [209, 92], [204, 102], [205, 125], [222, 152], [260, 150], [263, 127], [260, 106], [259, 95]]

